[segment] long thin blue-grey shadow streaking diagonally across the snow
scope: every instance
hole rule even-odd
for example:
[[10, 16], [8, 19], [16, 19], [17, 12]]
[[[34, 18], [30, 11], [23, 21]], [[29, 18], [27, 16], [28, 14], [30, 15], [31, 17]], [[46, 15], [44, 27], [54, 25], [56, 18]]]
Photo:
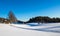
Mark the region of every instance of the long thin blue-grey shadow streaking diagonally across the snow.
[[[13, 26], [13, 25], [11, 25], [11, 26]], [[23, 28], [23, 27], [17, 27], [17, 26], [13, 26], [13, 27], [21, 28], [21, 29], [26, 29], [26, 30], [35, 30], [35, 31], [60, 33], [60, 31], [56, 31], [56, 30], [47, 30], [48, 28], [45, 28], [45, 29], [32, 29], [32, 28]], [[60, 26], [50, 27], [50, 28], [60, 28]]]

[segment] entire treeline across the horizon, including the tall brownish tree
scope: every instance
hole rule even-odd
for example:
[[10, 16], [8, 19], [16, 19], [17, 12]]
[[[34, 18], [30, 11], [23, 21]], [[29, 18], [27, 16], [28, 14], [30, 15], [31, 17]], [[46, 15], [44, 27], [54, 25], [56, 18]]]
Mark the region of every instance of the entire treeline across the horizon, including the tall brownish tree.
[[29, 21], [23, 22], [20, 20], [17, 20], [15, 15], [13, 14], [12, 11], [9, 12], [8, 18], [0, 18], [0, 22], [5, 22], [5, 23], [58, 23], [60, 22], [60, 18], [50, 18], [48, 16], [37, 16], [30, 18]]

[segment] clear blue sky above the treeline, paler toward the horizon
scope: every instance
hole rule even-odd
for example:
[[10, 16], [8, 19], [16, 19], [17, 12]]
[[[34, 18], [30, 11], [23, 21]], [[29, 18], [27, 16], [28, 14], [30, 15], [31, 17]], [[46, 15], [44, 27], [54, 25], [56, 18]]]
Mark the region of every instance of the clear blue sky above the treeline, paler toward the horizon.
[[0, 17], [7, 18], [10, 10], [22, 21], [35, 16], [60, 17], [60, 0], [0, 0]]

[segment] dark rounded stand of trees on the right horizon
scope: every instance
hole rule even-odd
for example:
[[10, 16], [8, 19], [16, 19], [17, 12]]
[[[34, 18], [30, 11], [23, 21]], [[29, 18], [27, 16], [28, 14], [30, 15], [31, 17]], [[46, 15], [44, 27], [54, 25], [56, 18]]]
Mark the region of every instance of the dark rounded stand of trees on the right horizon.
[[50, 18], [48, 16], [38, 16], [34, 18], [30, 18], [27, 23], [57, 23], [60, 22], [60, 18]]

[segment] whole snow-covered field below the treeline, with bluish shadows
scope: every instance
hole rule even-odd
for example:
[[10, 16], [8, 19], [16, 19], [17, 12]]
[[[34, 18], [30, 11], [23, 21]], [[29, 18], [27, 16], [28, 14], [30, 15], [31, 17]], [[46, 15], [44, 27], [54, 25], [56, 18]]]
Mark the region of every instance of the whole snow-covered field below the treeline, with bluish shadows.
[[60, 23], [0, 23], [0, 36], [60, 36]]

